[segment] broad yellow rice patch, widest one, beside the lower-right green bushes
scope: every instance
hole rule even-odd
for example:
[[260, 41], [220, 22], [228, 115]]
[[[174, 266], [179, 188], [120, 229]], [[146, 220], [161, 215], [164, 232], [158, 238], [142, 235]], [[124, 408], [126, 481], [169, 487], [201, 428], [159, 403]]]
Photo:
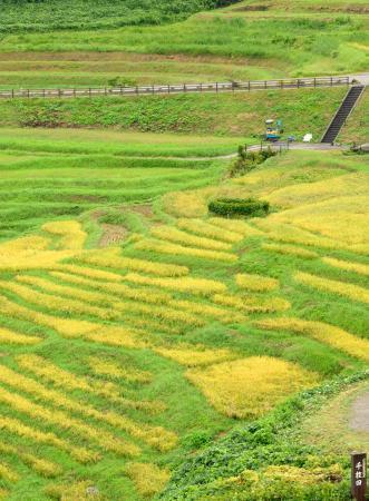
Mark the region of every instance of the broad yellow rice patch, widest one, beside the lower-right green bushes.
[[190, 369], [186, 375], [219, 412], [240, 419], [259, 418], [288, 395], [318, 382], [314, 373], [270, 356]]

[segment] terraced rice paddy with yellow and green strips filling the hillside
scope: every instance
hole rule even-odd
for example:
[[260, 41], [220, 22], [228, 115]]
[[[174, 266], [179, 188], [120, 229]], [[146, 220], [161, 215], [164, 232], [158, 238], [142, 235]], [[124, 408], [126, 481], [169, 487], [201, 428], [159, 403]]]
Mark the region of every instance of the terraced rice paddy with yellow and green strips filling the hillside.
[[[88, 167], [8, 154], [0, 183], [19, 193], [2, 189], [1, 205], [4, 493], [152, 498], [235, 419], [367, 366], [369, 240], [339, 226], [368, 218], [367, 167], [319, 155], [226, 180], [226, 160]], [[270, 199], [273, 214], [206, 215], [211, 197], [240, 194]], [[122, 242], [100, 245], [106, 220], [125, 227]]]

